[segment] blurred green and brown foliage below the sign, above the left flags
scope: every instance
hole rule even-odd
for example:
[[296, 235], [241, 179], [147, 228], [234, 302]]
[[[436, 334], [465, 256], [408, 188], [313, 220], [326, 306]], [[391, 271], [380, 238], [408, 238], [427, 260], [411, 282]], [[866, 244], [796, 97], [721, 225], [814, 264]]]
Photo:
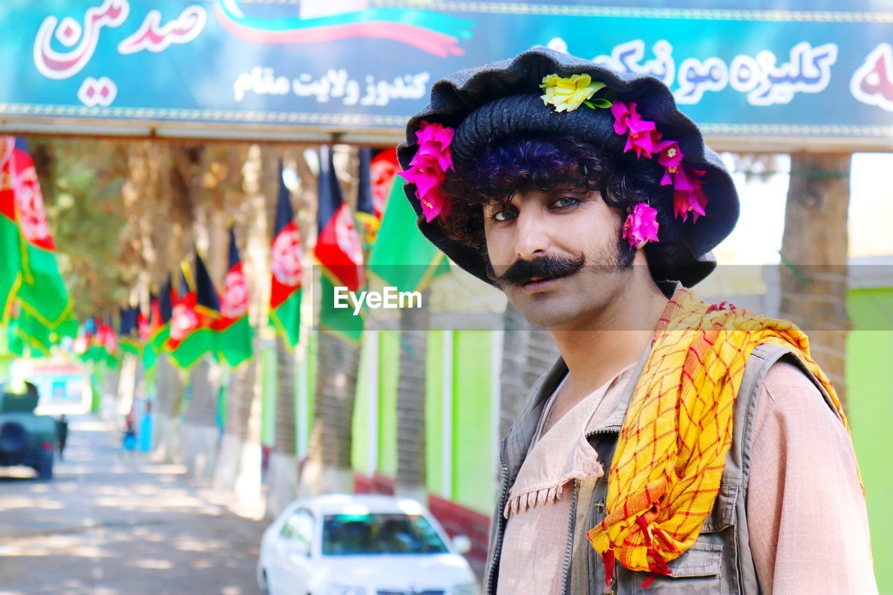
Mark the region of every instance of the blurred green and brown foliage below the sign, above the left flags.
[[29, 138], [29, 151], [81, 320], [147, 306], [196, 239], [222, 281], [225, 225], [242, 218], [246, 146]]

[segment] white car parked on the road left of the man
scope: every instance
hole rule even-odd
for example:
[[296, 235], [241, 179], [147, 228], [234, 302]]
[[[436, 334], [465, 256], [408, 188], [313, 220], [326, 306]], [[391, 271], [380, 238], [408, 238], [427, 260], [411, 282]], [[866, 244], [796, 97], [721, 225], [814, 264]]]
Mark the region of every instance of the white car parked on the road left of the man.
[[478, 595], [471, 547], [413, 499], [298, 499], [263, 532], [257, 582], [271, 595]]

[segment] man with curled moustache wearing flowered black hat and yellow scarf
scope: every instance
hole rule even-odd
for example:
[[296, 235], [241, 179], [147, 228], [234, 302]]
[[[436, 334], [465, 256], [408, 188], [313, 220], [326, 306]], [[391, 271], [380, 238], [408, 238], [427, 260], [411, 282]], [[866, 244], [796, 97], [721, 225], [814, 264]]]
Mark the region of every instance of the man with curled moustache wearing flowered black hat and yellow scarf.
[[419, 228], [561, 357], [503, 441], [488, 593], [871, 593], [830, 381], [689, 289], [738, 219], [659, 80], [534, 48], [440, 80], [398, 155]]

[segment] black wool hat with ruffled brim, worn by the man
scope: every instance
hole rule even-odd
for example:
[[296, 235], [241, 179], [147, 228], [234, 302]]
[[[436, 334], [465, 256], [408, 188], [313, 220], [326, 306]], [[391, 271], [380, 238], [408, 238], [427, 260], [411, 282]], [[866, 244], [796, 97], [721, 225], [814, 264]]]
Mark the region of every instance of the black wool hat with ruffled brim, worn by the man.
[[[405, 143], [397, 147], [400, 165], [405, 171], [410, 169], [410, 162], [419, 150], [416, 132], [422, 122], [454, 129], [450, 148], [459, 170], [473, 163], [493, 138], [505, 136], [566, 136], [622, 154], [627, 140], [614, 130], [611, 109], [580, 106], [558, 112], [552, 105], [544, 105], [540, 98], [543, 90], [539, 86], [544, 77], [552, 74], [559, 77], [588, 74], [591, 80], [604, 82], [617, 100], [635, 103], [641, 118], [655, 122], [656, 130], [664, 139], [678, 142], [684, 155], [682, 164], [687, 170], [704, 172], [700, 181], [707, 200], [706, 214], [697, 222], [689, 219], [681, 224], [683, 249], [680, 251], [687, 256], [663, 267], [669, 280], [681, 281], [686, 287], [703, 280], [716, 266], [711, 250], [729, 235], [738, 221], [738, 193], [719, 155], [705, 146], [697, 125], [679, 111], [670, 89], [650, 75], [613, 71], [542, 46], [510, 60], [455, 72], [434, 83], [430, 104], [407, 123]], [[448, 238], [437, 218], [426, 221], [416, 190], [415, 184], [405, 183], [405, 195], [418, 215], [422, 234], [455, 264], [493, 284], [487, 275], [486, 252]]]

